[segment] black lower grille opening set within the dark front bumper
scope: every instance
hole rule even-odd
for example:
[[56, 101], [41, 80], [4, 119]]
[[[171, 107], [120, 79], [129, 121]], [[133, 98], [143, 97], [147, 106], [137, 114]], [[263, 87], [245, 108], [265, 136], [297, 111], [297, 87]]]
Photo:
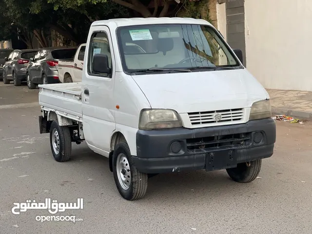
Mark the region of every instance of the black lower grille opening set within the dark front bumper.
[[214, 150], [222, 148], [239, 148], [250, 144], [251, 134], [240, 133], [214, 137], [186, 139], [186, 148], [189, 151]]

